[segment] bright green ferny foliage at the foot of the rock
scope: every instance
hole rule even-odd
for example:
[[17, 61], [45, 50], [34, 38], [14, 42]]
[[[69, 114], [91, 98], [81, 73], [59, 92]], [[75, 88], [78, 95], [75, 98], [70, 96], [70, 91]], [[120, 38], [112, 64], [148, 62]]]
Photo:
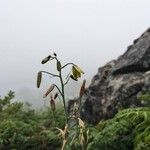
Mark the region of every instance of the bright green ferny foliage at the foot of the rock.
[[132, 108], [97, 125], [91, 150], [150, 149], [150, 108]]

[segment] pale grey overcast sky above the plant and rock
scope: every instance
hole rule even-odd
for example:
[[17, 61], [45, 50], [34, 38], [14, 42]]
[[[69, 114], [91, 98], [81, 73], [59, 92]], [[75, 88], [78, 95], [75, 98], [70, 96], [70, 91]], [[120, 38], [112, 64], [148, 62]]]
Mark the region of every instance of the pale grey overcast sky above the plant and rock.
[[150, 0], [0, 0], [0, 95], [35, 88], [53, 51], [91, 79], [149, 26]]

